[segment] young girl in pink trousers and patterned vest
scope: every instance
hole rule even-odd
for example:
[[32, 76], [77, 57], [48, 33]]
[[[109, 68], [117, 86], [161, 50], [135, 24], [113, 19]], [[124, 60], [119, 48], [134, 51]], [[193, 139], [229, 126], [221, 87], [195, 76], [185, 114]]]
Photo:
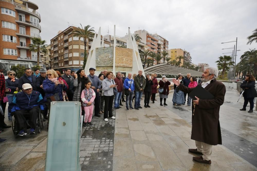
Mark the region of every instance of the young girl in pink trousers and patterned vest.
[[85, 86], [86, 86], [85, 89], [83, 89], [81, 93], [82, 106], [85, 109], [85, 116], [84, 116], [84, 123], [83, 123], [84, 128], [86, 128], [87, 125], [94, 126], [91, 123], [91, 119], [93, 116], [93, 110], [94, 110], [94, 104], [95, 104], [94, 100], [96, 97], [95, 91], [92, 88], [90, 88], [91, 82], [89, 80], [86, 81]]

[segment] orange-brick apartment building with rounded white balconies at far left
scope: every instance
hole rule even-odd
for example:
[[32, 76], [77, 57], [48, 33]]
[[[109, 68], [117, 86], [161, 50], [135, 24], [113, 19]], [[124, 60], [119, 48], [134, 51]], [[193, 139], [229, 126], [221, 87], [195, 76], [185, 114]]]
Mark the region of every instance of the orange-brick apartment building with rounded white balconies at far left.
[[[41, 16], [30, 1], [0, 0], [0, 63], [9, 70], [12, 65], [36, 65], [37, 53], [29, 51], [31, 38], [40, 37]], [[40, 59], [42, 62], [42, 59]]]

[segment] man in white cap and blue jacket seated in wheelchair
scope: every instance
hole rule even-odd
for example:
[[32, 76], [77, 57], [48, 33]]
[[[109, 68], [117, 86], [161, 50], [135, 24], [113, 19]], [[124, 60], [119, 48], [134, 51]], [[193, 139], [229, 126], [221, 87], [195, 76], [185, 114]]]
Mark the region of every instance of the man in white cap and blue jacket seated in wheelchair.
[[43, 103], [42, 95], [32, 90], [32, 86], [29, 83], [23, 84], [22, 92], [14, 95], [10, 105], [12, 105], [11, 115], [16, 119], [17, 130], [20, 130], [18, 135], [27, 135], [25, 117], [29, 117], [30, 120], [31, 128], [29, 134], [35, 134], [36, 120], [39, 112], [44, 113]]

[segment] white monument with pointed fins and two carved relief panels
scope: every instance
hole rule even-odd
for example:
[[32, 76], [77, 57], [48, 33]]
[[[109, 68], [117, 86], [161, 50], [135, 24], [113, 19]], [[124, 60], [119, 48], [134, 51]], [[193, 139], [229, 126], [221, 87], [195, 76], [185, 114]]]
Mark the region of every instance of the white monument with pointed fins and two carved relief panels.
[[[99, 75], [101, 71], [107, 69], [107, 71], [122, 73], [138, 74], [139, 70], [143, 71], [141, 58], [138, 52], [135, 39], [132, 40], [130, 28], [128, 27], [127, 35], [127, 48], [116, 47], [115, 25], [114, 25], [114, 40], [113, 47], [104, 47], [104, 41], [101, 44], [101, 27], [98, 34], [94, 36], [91, 49], [87, 58], [85, 66], [85, 72], [89, 74], [89, 68], [95, 68], [95, 75]], [[103, 38], [104, 39], [104, 38]]]

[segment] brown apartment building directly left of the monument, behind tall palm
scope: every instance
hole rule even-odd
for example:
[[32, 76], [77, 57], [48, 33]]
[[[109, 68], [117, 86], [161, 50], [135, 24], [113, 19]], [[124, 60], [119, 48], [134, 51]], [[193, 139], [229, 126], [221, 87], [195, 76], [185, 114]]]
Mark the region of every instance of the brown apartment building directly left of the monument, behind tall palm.
[[[62, 73], [67, 68], [78, 71], [83, 67], [85, 53], [84, 38], [74, 36], [74, 33], [72, 33], [77, 28], [78, 27], [76, 26], [69, 26], [64, 31], [59, 31], [57, 36], [51, 39], [50, 64], [52, 69], [58, 70]], [[89, 38], [89, 40], [87, 40], [87, 56], [92, 42], [93, 38]], [[110, 46], [107, 40], [104, 40], [104, 44], [106, 47]]]

